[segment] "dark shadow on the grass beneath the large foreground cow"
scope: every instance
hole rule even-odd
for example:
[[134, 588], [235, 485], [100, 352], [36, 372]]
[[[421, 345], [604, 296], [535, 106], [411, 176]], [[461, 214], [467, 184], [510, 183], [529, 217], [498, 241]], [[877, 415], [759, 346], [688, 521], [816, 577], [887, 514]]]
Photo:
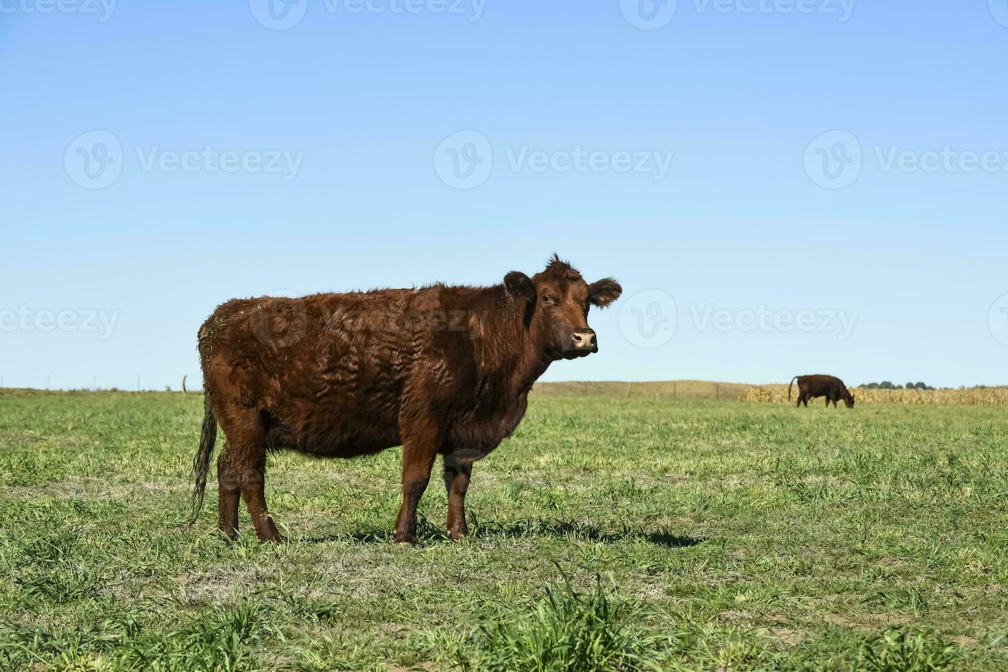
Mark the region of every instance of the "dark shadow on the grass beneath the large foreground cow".
[[[686, 548], [704, 542], [698, 537], [683, 536], [673, 533], [668, 528], [647, 529], [624, 525], [615, 530], [606, 530], [589, 522], [564, 520], [518, 520], [507, 522], [477, 520], [475, 517], [469, 524], [470, 537], [482, 538], [533, 538], [562, 537], [571, 541], [586, 541], [612, 544], [620, 541], [643, 541], [665, 548]], [[419, 517], [416, 524], [416, 536], [420, 543], [430, 544], [450, 542], [448, 532], [433, 525], [424, 517]], [[349, 534], [338, 534], [327, 537], [307, 539], [308, 542], [325, 541], [356, 541], [360, 543], [386, 543], [392, 541], [390, 529], [355, 530]]]

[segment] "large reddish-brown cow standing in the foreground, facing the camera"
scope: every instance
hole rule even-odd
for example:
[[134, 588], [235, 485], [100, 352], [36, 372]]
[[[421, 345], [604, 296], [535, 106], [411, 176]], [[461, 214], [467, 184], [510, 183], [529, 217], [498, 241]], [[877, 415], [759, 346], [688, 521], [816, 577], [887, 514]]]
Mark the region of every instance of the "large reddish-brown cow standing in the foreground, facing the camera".
[[302, 298], [233, 299], [200, 329], [203, 433], [194, 520], [218, 423], [220, 528], [238, 534], [245, 500], [256, 534], [280, 541], [266, 510], [267, 451], [354, 457], [402, 445], [394, 539], [416, 543], [416, 505], [444, 455], [448, 532], [468, 533], [473, 462], [509, 436], [551, 362], [598, 352], [588, 309], [619, 298], [555, 255], [529, 278], [491, 287], [434, 284]]

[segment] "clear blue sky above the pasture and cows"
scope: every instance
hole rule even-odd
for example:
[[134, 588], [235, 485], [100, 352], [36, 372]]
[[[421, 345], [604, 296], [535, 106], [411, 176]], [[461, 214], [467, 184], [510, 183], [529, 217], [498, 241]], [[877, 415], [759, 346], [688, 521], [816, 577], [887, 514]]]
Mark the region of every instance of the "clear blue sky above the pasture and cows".
[[547, 380], [1008, 383], [1008, 0], [275, 2], [0, 0], [4, 385], [554, 251], [625, 294]]

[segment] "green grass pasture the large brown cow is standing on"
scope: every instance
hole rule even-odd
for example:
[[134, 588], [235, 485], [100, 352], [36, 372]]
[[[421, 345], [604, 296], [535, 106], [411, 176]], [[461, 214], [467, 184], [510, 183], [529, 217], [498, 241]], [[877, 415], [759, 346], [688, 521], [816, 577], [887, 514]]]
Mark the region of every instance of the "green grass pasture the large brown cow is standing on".
[[0, 394], [0, 669], [1008, 669], [1008, 416], [539, 395], [446, 539], [397, 450], [184, 525], [199, 395]]

